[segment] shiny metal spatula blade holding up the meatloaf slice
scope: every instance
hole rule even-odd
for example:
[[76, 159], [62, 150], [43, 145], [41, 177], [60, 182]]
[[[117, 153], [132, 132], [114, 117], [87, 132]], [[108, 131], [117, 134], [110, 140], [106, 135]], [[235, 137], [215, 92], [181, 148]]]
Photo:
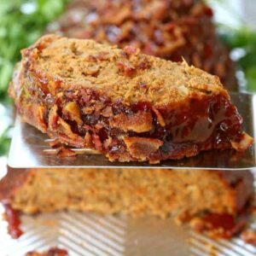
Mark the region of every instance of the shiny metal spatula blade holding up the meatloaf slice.
[[[247, 131], [254, 140], [256, 122], [256, 95], [237, 94], [231, 95], [232, 102], [238, 107], [243, 117], [244, 131]], [[30, 125], [21, 124], [18, 120], [15, 125], [14, 136], [9, 152], [9, 166], [14, 168], [47, 168], [47, 167], [99, 167], [99, 168], [193, 168], [193, 169], [222, 169], [222, 170], [245, 170], [256, 166], [255, 146], [249, 148], [245, 153], [235, 150], [201, 153], [193, 158], [183, 160], [166, 160], [160, 164], [149, 165], [148, 163], [131, 162], [119, 163], [109, 162], [102, 155], [79, 154], [76, 157], [61, 158], [56, 155], [45, 154], [49, 149], [45, 143], [48, 137]]]

